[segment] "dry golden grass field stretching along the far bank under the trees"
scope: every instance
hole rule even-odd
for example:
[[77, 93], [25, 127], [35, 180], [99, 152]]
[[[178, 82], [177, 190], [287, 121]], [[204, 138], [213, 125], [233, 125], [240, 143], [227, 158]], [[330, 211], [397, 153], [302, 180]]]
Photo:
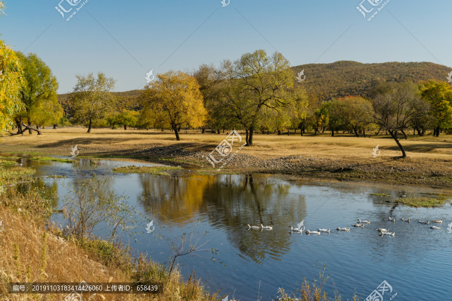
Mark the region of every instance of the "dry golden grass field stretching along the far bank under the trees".
[[[149, 161], [169, 158], [179, 164], [195, 165], [199, 173], [216, 173], [202, 156], [210, 153], [227, 136], [226, 132], [201, 134], [200, 130], [182, 130], [181, 141], [176, 141], [173, 132], [161, 130], [94, 128], [91, 133], [86, 133], [86, 128], [68, 127], [46, 128], [42, 132], [42, 135], [33, 132], [32, 135], [4, 137], [0, 140], [0, 152], [70, 156], [71, 147], [78, 145], [79, 156], [135, 157]], [[239, 133], [244, 140], [245, 133]], [[289, 174], [342, 181], [379, 179], [452, 187], [451, 135], [412, 135], [407, 140], [402, 139], [408, 155], [403, 160], [399, 159], [401, 152], [395, 141], [384, 134], [371, 133], [364, 138], [340, 133], [331, 137], [325, 131], [322, 135], [306, 133], [301, 136], [298, 130], [297, 133], [291, 131], [290, 135], [287, 132], [283, 135], [255, 134], [253, 142], [253, 146], [244, 147], [221, 172]], [[372, 151], [377, 145], [381, 153], [373, 158]], [[198, 153], [198, 156], [146, 152], [155, 146], [178, 146]]]

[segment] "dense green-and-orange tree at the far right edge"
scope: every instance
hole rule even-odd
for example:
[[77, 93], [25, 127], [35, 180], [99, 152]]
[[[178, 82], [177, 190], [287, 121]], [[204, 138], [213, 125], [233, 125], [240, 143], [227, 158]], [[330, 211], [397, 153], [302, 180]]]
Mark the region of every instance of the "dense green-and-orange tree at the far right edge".
[[429, 81], [420, 85], [421, 96], [430, 103], [433, 134], [440, 128], [452, 127], [452, 87], [445, 82]]

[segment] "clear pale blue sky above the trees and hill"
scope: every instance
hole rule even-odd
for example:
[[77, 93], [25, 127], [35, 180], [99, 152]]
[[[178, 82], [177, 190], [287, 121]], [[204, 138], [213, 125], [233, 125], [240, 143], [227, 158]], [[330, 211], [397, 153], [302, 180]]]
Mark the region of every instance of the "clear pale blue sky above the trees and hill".
[[[0, 39], [41, 57], [59, 93], [72, 91], [75, 74], [102, 71], [117, 79], [116, 91], [128, 91], [142, 88], [151, 69], [192, 70], [256, 49], [276, 49], [293, 66], [340, 60], [452, 66], [450, 0], [391, 0], [370, 22], [356, 9], [362, 0], [231, 0], [226, 7], [220, 0], [89, 0], [69, 22], [75, 9], [63, 19], [55, 10], [60, 1], [6, 0], [7, 16], [0, 18]], [[71, 8], [66, 0], [61, 5]], [[373, 7], [367, 0], [363, 6]]]

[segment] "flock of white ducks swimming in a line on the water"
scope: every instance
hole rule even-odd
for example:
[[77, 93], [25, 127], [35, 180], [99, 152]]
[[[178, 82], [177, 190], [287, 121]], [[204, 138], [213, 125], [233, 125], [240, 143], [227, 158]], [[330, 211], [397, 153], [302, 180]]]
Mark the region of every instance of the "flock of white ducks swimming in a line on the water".
[[[409, 219], [404, 219], [401, 218], [402, 221], [404, 222], [411, 222], [411, 218]], [[390, 216], [388, 217], [388, 221], [395, 223], [395, 218], [391, 218]], [[292, 226], [289, 226], [290, 228], [290, 233], [292, 232], [300, 232], [302, 233], [304, 231], [303, 228], [303, 222], [300, 222], [299, 224], [297, 224], [296, 228], [293, 228]], [[430, 224], [430, 221], [418, 221], [420, 224]], [[435, 224], [442, 224], [442, 219], [440, 220], [433, 220], [432, 223]], [[370, 221], [362, 221], [360, 219], [357, 220], [356, 224], [353, 224], [352, 226], [357, 227], [357, 228], [364, 228], [364, 224], [369, 224], [370, 225]], [[431, 229], [435, 229], [435, 230], [441, 230], [441, 227], [437, 227], [437, 226], [431, 226]], [[260, 224], [259, 226], [250, 226], [250, 224], [247, 225], [247, 229], [254, 229], [254, 230], [273, 230], [273, 226], [264, 226], [262, 224]], [[345, 232], [350, 232], [350, 228], [336, 228], [337, 231], [345, 231]], [[384, 229], [384, 228], [380, 228], [380, 229], [376, 229], [379, 233], [380, 236], [383, 235], [390, 235], [390, 236], [395, 236], [395, 232], [389, 232], [389, 229]], [[321, 232], [324, 233], [329, 233], [330, 229], [317, 229], [317, 231], [309, 231], [306, 230], [304, 233], [306, 233], [306, 235], [308, 234], [314, 234], [314, 235], [320, 235]]]

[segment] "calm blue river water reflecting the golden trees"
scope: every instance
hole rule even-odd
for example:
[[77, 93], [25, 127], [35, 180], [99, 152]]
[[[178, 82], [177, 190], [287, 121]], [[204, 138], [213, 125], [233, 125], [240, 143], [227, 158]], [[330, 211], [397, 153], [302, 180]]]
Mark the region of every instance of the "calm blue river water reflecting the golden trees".
[[[19, 161], [18, 161], [19, 162]], [[37, 169], [37, 177], [65, 175], [63, 179], [42, 178], [35, 185], [54, 195], [55, 207], [77, 186], [71, 164], [43, 163], [22, 159]], [[397, 292], [394, 300], [431, 301], [452, 295], [452, 223], [450, 195], [444, 191], [405, 186], [361, 185], [289, 181], [270, 175], [198, 176], [182, 171], [172, 177], [146, 174], [112, 174], [119, 165], [152, 166], [149, 163], [102, 160], [99, 166], [81, 159], [86, 175], [96, 173], [108, 179], [105, 190], [128, 197], [128, 202], [154, 220], [152, 234], [143, 233], [133, 247], [147, 252], [157, 262], [168, 264], [170, 244], [182, 233], [205, 242], [198, 252], [180, 257], [184, 278], [194, 271], [207, 289], [221, 295], [231, 293], [241, 300], [271, 300], [279, 287], [301, 288], [304, 277], [313, 281], [326, 265], [334, 289], [344, 299], [355, 290], [365, 299], [386, 280]], [[105, 174], [105, 175], [102, 175]], [[378, 197], [372, 193], [385, 193]], [[440, 208], [414, 209], [389, 203], [401, 194], [436, 196], [446, 202]], [[396, 219], [389, 222], [388, 216]], [[360, 218], [370, 220], [364, 229], [351, 227]], [[411, 223], [400, 218], [411, 218]], [[62, 222], [61, 215], [53, 219]], [[432, 230], [417, 220], [443, 219], [441, 230]], [[305, 235], [289, 233], [288, 226], [304, 220], [308, 230], [331, 229], [331, 233]], [[272, 231], [247, 230], [246, 225], [273, 225]], [[336, 227], [351, 227], [338, 232]], [[377, 228], [389, 228], [395, 236], [380, 237]], [[205, 232], [207, 232], [205, 234]], [[205, 235], [204, 235], [205, 234]], [[211, 260], [211, 258], [215, 260]], [[219, 263], [221, 262], [221, 263]], [[225, 265], [225, 266], [224, 266]], [[391, 294], [391, 295], [392, 295]], [[391, 297], [386, 292], [384, 300]], [[433, 297], [433, 298], [432, 298]]]

